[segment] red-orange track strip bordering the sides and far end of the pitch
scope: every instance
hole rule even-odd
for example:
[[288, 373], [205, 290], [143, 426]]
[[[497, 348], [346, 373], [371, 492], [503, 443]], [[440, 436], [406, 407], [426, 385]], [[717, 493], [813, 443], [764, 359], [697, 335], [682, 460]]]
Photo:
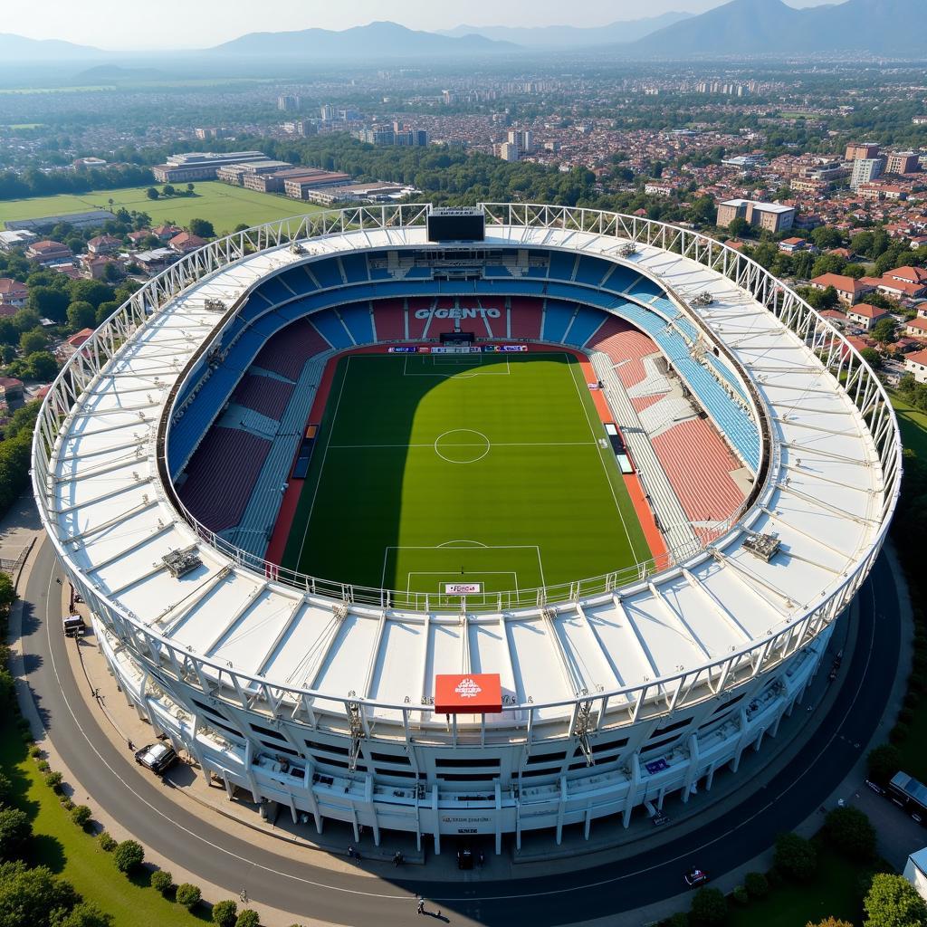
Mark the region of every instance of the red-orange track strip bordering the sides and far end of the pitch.
[[[407, 346], [411, 347], [411, 345]], [[316, 390], [315, 400], [312, 402], [312, 409], [309, 413], [306, 425], [309, 425], [311, 422], [321, 423], [325, 411], [325, 403], [328, 401], [329, 393], [332, 391], [332, 383], [335, 379], [335, 368], [342, 358], [348, 357], [350, 354], [387, 354], [389, 352], [389, 347], [391, 346], [369, 345], [366, 348], [352, 348], [341, 351], [330, 358], [328, 363], [325, 364], [322, 382]], [[431, 346], [423, 344], [421, 347]], [[578, 350], [565, 348], [563, 345], [529, 344], [526, 345], [526, 347], [528, 351], [550, 352], [556, 350], [565, 354], [571, 354], [578, 360], [579, 367], [582, 370], [583, 376], [586, 378], [586, 382], [597, 382], [589, 358]], [[605, 397], [600, 390], [592, 389], [590, 392], [592, 394], [592, 400], [595, 403], [596, 411], [599, 413], [599, 417], [602, 419], [603, 423], [613, 421], [613, 415], [608, 408], [608, 403], [605, 401]], [[651, 511], [650, 505], [644, 498], [643, 489], [641, 489], [641, 481], [638, 479], [636, 473], [624, 475], [624, 480], [625, 486], [628, 488], [631, 502], [634, 504], [634, 511], [641, 521], [641, 528], [643, 529], [644, 537], [647, 539], [647, 545], [650, 547], [651, 556], [654, 558], [661, 557], [667, 552], [667, 547], [654, 522], [654, 513]], [[296, 516], [299, 494], [302, 492], [302, 487], [303, 480], [301, 479], [291, 479], [286, 486], [283, 501], [280, 503], [280, 512], [277, 514], [277, 521], [273, 526], [271, 542], [268, 544], [267, 553], [265, 554], [265, 559], [269, 560], [272, 564], [279, 565], [280, 561], [283, 559], [286, 550], [286, 540], [289, 538], [290, 530], [293, 527], [293, 519]]]

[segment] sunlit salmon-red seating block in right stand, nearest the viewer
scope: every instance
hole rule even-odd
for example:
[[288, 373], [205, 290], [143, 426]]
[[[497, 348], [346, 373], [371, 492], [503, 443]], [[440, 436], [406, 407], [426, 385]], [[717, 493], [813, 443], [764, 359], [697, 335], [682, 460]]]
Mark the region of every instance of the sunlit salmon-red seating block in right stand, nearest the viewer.
[[743, 493], [730, 478], [730, 471], [740, 464], [708, 422], [700, 418], [680, 422], [652, 438], [652, 443], [691, 521], [721, 521], [743, 502]]

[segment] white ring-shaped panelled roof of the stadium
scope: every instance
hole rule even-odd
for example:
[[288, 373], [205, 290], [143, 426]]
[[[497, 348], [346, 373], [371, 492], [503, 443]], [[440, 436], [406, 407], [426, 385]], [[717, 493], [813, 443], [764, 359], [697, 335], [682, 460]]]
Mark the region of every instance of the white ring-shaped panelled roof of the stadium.
[[[631, 705], [630, 687], [706, 665], [722, 692], [735, 672], [756, 672], [772, 644], [756, 667], [744, 660], [731, 668], [731, 654], [757, 654], [760, 642], [797, 627], [870, 555], [885, 489], [870, 432], [806, 344], [745, 289], [640, 242], [620, 258], [624, 240], [614, 235], [493, 224], [488, 247], [582, 249], [632, 263], [688, 298], [711, 294], [708, 305], [680, 301], [679, 309], [699, 315], [750, 371], [774, 436], [767, 487], [746, 516], [750, 531], [619, 593], [467, 616], [333, 603], [211, 548], [160, 488], [153, 440], [171, 387], [219, 321], [206, 300], [231, 305], [267, 274], [319, 255], [426, 244], [424, 227], [388, 227], [313, 238], [305, 253], [262, 250], [190, 286], [133, 336], [67, 420], [51, 464], [53, 533], [98, 594], [200, 656], [209, 672], [233, 667], [338, 700], [355, 691], [375, 703], [371, 717], [399, 717], [404, 702], [433, 696], [435, 673], [472, 671], [500, 673], [511, 701], [562, 719], [580, 692], [616, 692]], [[770, 562], [744, 546], [752, 532], [778, 537]], [[202, 565], [174, 578], [162, 557], [190, 547]], [[794, 652], [782, 646], [783, 657]]]

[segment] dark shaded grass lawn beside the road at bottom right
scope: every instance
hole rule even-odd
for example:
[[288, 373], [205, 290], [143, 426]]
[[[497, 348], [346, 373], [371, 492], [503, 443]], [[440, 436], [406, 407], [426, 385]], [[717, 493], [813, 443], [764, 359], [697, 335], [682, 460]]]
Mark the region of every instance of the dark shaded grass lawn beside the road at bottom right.
[[830, 847], [818, 844], [818, 872], [813, 883], [785, 883], [760, 901], [740, 907], [730, 902], [726, 927], [804, 927], [827, 917], [858, 924], [857, 880], [862, 874]]

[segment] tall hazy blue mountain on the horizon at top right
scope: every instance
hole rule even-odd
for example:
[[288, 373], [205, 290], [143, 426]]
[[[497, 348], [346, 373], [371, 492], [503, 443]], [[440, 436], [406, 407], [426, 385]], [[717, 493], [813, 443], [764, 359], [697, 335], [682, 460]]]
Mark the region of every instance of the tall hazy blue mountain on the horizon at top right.
[[634, 57], [867, 52], [927, 57], [925, 0], [846, 0], [794, 9], [782, 0], [732, 0], [652, 32], [627, 47]]

